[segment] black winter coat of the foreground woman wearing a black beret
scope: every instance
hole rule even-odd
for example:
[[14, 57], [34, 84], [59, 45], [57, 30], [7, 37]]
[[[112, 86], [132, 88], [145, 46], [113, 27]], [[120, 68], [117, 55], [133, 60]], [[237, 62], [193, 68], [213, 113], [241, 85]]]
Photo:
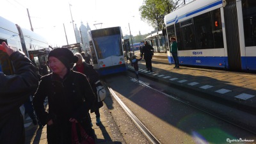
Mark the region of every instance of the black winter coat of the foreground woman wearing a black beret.
[[[48, 97], [49, 112], [44, 108], [45, 97]], [[71, 122], [68, 120], [76, 118], [82, 122], [88, 119], [94, 101], [95, 95], [87, 77], [79, 72], [68, 70], [63, 79], [52, 73], [42, 77], [33, 97], [33, 106], [43, 125], [53, 120], [52, 125], [47, 125], [48, 143], [71, 143]]]

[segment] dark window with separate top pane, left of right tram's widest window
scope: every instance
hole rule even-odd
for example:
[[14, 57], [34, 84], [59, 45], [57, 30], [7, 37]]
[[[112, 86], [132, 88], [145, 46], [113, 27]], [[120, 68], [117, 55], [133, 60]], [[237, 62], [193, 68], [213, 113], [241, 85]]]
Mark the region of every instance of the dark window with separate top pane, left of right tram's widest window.
[[184, 50], [196, 49], [195, 31], [192, 20], [180, 22]]

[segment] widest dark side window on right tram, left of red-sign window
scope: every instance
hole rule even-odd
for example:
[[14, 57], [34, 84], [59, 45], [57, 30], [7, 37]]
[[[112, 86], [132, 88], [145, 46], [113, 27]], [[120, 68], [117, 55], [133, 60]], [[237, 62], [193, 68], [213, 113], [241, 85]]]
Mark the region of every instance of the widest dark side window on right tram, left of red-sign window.
[[212, 49], [213, 35], [211, 12], [204, 13], [194, 18], [196, 47], [197, 49]]

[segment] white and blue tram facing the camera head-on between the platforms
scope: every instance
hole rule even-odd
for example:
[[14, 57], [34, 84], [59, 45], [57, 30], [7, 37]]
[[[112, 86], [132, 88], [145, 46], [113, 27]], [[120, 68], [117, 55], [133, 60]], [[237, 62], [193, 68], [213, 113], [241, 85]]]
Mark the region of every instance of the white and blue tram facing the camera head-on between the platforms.
[[93, 67], [100, 76], [126, 72], [127, 60], [120, 27], [88, 31]]

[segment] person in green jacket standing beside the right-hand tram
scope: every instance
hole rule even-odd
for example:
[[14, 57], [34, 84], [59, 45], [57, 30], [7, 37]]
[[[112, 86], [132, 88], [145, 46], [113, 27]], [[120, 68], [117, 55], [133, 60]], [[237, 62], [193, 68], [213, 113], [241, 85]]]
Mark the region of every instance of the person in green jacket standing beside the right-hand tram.
[[170, 41], [171, 41], [170, 52], [172, 54], [172, 58], [173, 58], [173, 61], [175, 63], [175, 67], [173, 67], [173, 68], [180, 68], [179, 67], [178, 47], [177, 47], [176, 38], [172, 37], [172, 38], [170, 38]]

